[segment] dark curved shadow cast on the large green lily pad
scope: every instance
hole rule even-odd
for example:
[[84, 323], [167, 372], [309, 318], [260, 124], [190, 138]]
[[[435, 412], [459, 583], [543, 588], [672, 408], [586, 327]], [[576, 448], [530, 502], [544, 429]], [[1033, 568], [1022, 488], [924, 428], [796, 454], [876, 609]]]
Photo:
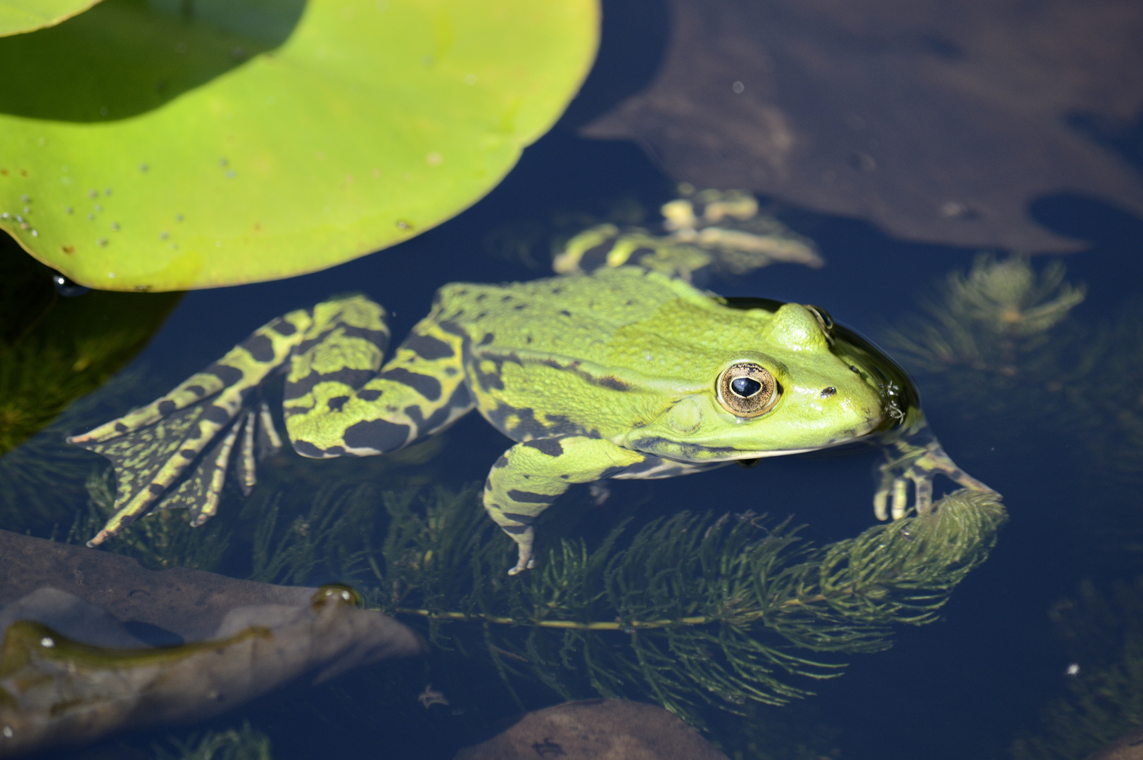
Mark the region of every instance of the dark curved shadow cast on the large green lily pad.
[[158, 109], [273, 50], [305, 0], [106, 0], [0, 39], [0, 113], [114, 121]]

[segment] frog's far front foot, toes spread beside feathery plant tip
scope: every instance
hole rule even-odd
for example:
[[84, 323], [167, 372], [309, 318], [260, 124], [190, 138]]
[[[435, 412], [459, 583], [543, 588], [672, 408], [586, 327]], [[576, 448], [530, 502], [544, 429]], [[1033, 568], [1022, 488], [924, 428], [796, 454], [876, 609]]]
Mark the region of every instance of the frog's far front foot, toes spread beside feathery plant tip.
[[933, 509], [933, 479], [937, 474], [965, 488], [996, 493], [958, 467], [924, 421], [913, 432], [886, 447], [886, 459], [879, 469], [880, 483], [873, 495], [873, 513], [878, 520], [887, 520], [890, 514], [894, 520], [905, 517], [910, 481], [917, 513], [927, 514]]

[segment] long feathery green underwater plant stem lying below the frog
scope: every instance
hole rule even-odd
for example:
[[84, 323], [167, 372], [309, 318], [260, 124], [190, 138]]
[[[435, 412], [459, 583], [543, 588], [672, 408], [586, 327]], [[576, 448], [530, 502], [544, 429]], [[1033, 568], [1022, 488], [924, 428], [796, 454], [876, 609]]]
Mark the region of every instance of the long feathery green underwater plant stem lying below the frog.
[[807, 679], [844, 667], [825, 653], [879, 651], [894, 625], [935, 619], [1006, 519], [994, 495], [958, 491], [928, 515], [814, 547], [765, 515], [681, 512], [623, 522], [594, 547], [560, 539], [510, 577], [513, 544], [475, 488], [382, 501], [377, 544], [368, 487], [325, 493], [288, 528], [259, 526], [261, 577], [302, 578], [323, 558], [370, 606], [490, 662], [510, 690], [522, 677], [561, 698], [650, 699], [696, 725], [703, 705], [742, 714], [805, 696]]

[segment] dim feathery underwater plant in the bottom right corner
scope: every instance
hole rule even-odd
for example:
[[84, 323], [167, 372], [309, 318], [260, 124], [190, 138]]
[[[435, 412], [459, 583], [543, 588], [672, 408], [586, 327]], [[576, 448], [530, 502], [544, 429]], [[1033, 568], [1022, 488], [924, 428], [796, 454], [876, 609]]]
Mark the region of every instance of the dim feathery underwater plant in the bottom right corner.
[[1082, 760], [1143, 723], [1143, 578], [1102, 591], [1084, 582], [1050, 616], [1074, 672], [1040, 730], [1013, 744], [1015, 760]]

